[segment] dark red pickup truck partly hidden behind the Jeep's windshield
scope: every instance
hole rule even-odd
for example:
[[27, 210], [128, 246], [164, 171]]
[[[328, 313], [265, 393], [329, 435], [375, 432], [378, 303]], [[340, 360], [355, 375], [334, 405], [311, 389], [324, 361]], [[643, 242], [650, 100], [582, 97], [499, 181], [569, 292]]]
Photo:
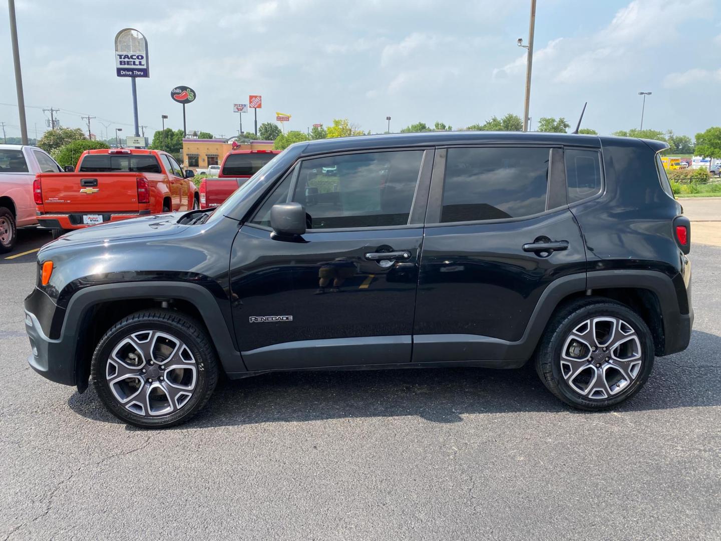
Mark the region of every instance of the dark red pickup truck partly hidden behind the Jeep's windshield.
[[231, 150], [226, 154], [218, 177], [200, 180], [200, 208], [218, 206], [280, 150]]

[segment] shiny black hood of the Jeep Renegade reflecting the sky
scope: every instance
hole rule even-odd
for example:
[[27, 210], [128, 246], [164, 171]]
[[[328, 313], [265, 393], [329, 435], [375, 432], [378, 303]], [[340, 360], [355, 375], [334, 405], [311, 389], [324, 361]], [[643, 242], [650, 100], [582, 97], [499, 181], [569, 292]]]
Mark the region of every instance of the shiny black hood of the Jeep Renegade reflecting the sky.
[[185, 212], [170, 212], [166, 214], [153, 214], [141, 216], [96, 226], [75, 229], [64, 234], [59, 239], [45, 245], [40, 253], [56, 250], [58, 248], [92, 243], [113, 242], [123, 239], [146, 239], [149, 237], [169, 237], [178, 234], [186, 225], [178, 224], [180, 216]]

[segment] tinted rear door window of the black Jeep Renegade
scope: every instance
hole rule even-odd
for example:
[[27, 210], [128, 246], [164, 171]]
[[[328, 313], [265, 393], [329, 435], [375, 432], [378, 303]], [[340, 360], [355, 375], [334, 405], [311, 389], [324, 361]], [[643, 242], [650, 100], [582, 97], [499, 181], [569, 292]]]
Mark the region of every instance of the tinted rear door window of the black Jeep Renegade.
[[519, 218], [546, 210], [549, 149], [448, 149], [441, 222]]

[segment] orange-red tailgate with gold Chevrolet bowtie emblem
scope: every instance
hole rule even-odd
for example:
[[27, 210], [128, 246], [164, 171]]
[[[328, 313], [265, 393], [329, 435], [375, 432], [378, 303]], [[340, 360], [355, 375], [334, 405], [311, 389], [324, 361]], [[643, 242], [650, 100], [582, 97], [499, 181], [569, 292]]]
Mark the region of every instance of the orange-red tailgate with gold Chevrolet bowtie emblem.
[[43, 208], [47, 212], [138, 211], [138, 177], [134, 172], [42, 173]]

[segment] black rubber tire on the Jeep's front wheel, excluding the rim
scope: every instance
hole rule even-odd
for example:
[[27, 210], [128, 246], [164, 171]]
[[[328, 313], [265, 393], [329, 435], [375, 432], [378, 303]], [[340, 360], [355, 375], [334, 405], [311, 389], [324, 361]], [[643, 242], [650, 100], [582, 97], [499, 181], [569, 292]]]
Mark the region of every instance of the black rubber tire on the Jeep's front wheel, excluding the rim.
[[[131, 411], [128, 408], [133, 407], [132, 404], [126, 407], [121, 403], [110, 388], [109, 377], [106, 377], [106, 374], [109, 373], [108, 366], [112, 364], [110, 355], [114, 348], [126, 338], [130, 338], [131, 335], [141, 335], [145, 331], [159, 331], [180, 340], [193, 356], [195, 387], [192, 390], [192, 395], [182, 405], [171, 406], [171, 413], [151, 416], [145, 414], [144, 408], [142, 414]], [[169, 361], [156, 361], [156, 365], [162, 362], [167, 363]], [[146, 365], [143, 364], [143, 366]], [[152, 366], [152, 363], [147, 366], [148, 371], [153, 369]], [[154, 370], [157, 371], [157, 369], [158, 366], [155, 366]], [[208, 402], [218, 382], [218, 360], [210, 338], [203, 330], [203, 325], [198, 321], [173, 310], [151, 309], [136, 312], [123, 318], [103, 335], [92, 356], [90, 375], [100, 400], [110, 410], [110, 413], [121, 421], [139, 428], [167, 428], [185, 423]], [[169, 379], [168, 374], [165, 375]], [[110, 376], [110, 378], [112, 377]], [[162, 377], [159, 379], [162, 379]], [[156, 382], [152, 384], [146, 376], [143, 376], [142, 383], [137, 385], [139, 389], [137, 400], [142, 401], [141, 395], [145, 392], [143, 390], [154, 385], [162, 385], [159, 379], [156, 377]], [[141, 380], [138, 379], [138, 381]], [[146, 385], [149, 387], [146, 387]], [[146, 394], [150, 396], [149, 393], [150, 390]], [[166, 397], [169, 402], [171, 400], [170, 395], [166, 394]], [[146, 404], [149, 405], [150, 400]], [[138, 408], [138, 406], [135, 407]]]

